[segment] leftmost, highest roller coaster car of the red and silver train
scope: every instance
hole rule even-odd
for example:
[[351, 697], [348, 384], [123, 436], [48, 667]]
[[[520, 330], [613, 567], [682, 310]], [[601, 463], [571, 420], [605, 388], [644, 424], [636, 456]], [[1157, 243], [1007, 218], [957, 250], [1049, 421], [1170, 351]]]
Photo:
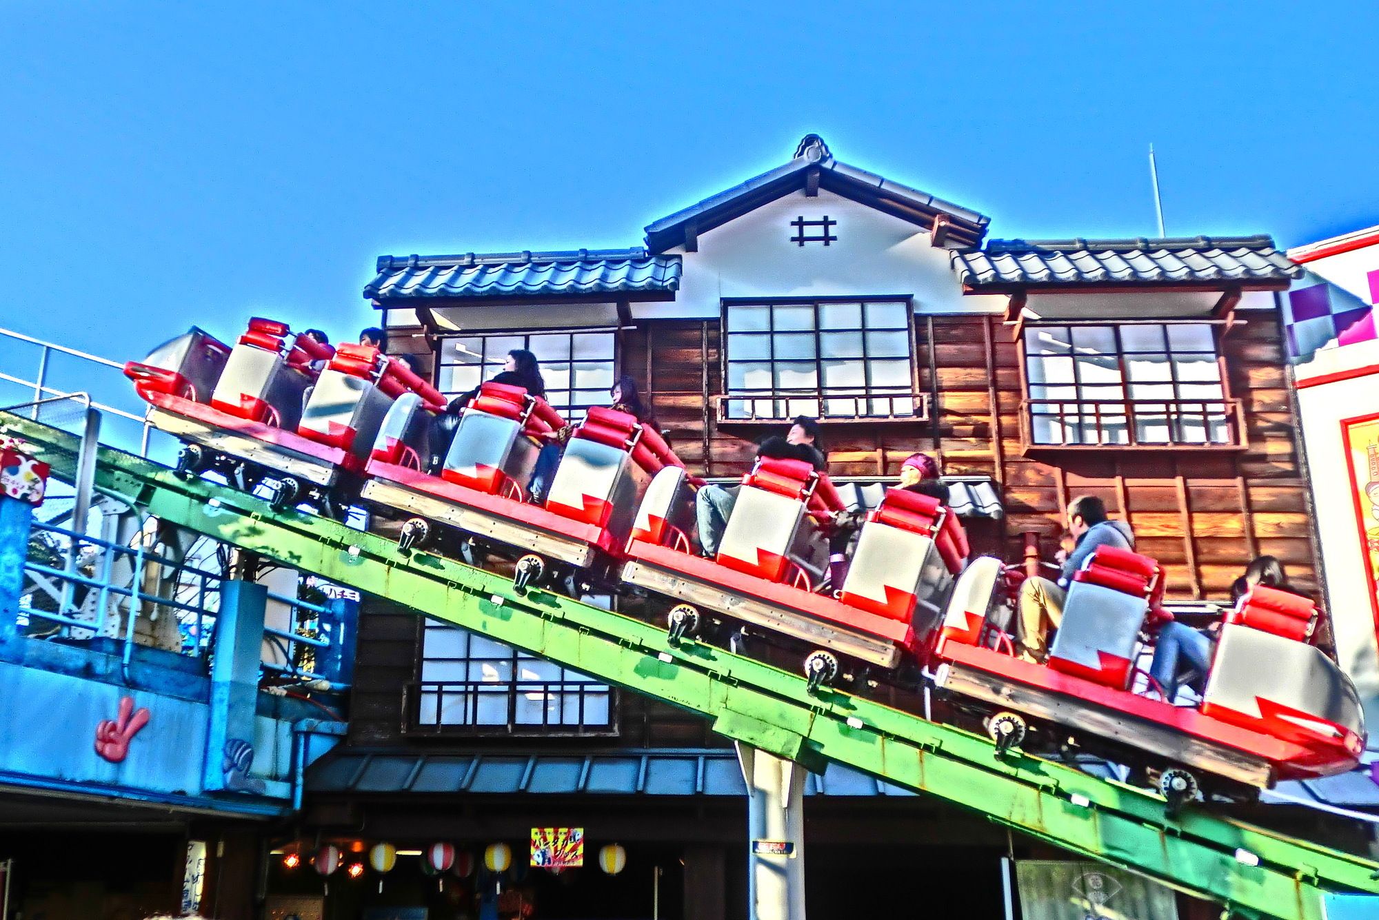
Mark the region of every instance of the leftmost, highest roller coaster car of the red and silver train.
[[190, 442], [181, 472], [215, 468], [244, 489], [268, 477], [280, 505], [357, 481], [379, 453], [419, 466], [429, 417], [445, 405], [376, 348], [335, 350], [262, 318], [233, 348], [193, 328], [124, 373], [153, 426]]

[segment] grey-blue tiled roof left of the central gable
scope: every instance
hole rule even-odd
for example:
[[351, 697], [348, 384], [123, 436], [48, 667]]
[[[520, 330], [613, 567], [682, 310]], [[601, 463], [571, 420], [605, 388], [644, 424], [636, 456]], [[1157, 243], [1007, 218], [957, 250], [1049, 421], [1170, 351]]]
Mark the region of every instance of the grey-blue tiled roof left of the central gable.
[[462, 256], [379, 256], [364, 286], [376, 300], [674, 291], [680, 256], [645, 249], [576, 249]]

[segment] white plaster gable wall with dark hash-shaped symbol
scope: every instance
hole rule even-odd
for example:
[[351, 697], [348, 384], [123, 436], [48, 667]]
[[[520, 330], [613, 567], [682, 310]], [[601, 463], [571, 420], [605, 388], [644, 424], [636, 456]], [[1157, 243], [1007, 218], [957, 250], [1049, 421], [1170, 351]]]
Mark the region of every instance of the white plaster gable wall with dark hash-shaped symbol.
[[[837, 220], [830, 233], [838, 240], [790, 242], [798, 216]], [[701, 234], [698, 252], [672, 252], [684, 256], [676, 300], [633, 304], [633, 317], [716, 320], [724, 297], [902, 295], [914, 297], [916, 313], [1005, 307], [1004, 296], [964, 296], [949, 252], [931, 247], [928, 231], [825, 190], [816, 198], [792, 191]]]

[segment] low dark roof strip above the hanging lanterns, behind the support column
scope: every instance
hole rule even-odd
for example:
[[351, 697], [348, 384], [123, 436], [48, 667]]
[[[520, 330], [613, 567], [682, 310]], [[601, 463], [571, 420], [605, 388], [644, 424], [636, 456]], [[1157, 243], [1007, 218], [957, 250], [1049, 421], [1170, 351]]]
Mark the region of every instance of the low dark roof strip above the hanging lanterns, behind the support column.
[[[472, 755], [336, 749], [310, 766], [313, 793], [410, 792], [469, 795], [745, 796], [731, 748], [626, 749], [596, 755]], [[809, 775], [805, 795], [913, 796], [914, 793], [830, 763]]]

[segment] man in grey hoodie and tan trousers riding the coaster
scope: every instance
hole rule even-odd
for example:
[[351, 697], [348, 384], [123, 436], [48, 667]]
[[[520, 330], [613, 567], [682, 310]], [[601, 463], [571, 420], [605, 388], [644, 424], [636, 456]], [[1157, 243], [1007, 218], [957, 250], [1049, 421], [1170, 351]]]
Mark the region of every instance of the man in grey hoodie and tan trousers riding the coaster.
[[1106, 505], [1096, 496], [1073, 499], [1067, 505], [1067, 532], [1077, 545], [1063, 559], [1058, 581], [1027, 578], [1020, 585], [1019, 620], [1015, 624], [1015, 643], [1020, 658], [1043, 664], [1048, 649], [1045, 636], [1063, 620], [1063, 602], [1073, 573], [1096, 552], [1098, 547], [1135, 548], [1135, 533], [1124, 521], [1106, 516]]

